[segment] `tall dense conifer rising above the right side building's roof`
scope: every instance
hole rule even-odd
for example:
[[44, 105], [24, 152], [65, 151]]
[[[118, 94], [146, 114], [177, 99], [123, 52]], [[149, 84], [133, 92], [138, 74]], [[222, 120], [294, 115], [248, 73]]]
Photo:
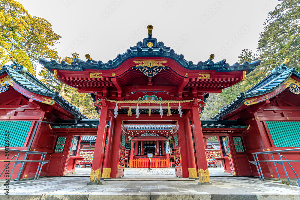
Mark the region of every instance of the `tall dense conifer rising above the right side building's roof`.
[[289, 67], [300, 70], [300, 0], [279, 0], [268, 13], [257, 50], [263, 59], [261, 77], [289, 58]]

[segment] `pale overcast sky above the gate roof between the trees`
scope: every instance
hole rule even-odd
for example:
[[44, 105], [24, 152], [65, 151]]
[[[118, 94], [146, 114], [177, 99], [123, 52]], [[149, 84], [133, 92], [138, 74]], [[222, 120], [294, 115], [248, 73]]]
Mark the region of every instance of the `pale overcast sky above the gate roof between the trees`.
[[[152, 37], [193, 63], [238, 61], [244, 48], [256, 51], [268, 12], [277, 0], [18, 0], [32, 16], [47, 19], [61, 36], [60, 57], [77, 52], [107, 62]], [[39, 67], [40, 68], [40, 67]], [[38, 69], [39, 70], [39, 69]]]

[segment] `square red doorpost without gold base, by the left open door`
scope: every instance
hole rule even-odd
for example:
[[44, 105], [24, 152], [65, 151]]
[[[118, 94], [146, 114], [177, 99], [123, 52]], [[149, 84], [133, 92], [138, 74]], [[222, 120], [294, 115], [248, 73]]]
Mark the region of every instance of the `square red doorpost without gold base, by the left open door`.
[[116, 121], [115, 136], [113, 141], [112, 162], [111, 162], [111, 178], [118, 177], [118, 166], [120, 158], [121, 136], [122, 136], [122, 120]]

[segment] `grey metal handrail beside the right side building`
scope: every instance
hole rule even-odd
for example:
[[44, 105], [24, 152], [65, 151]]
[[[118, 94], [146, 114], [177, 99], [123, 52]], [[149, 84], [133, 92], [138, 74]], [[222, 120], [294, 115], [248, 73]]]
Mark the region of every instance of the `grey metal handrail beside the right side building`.
[[[289, 182], [289, 185], [292, 185], [291, 181], [289, 180], [289, 176], [288, 176], [288, 174], [286, 172], [285, 166], [284, 166], [284, 162], [287, 162], [289, 164], [289, 166], [291, 167], [291, 169], [293, 170], [293, 172], [295, 173], [295, 175], [296, 175], [296, 177], [298, 179], [298, 187], [300, 187], [299, 177], [298, 177], [297, 173], [295, 172], [295, 170], [292, 168], [291, 164], [289, 163], [289, 162], [300, 162], [300, 160], [287, 160], [286, 157], [280, 155], [280, 152], [290, 152], [290, 151], [300, 151], [300, 148], [283, 149], [283, 150], [275, 150], [275, 151], [255, 152], [255, 153], [252, 153], [254, 161], [249, 161], [249, 162], [256, 165], [256, 169], [257, 169], [260, 181], [265, 181], [265, 178], [262, 175], [262, 169], [261, 169], [259, 163], [261, 163], [261, 162], [273, 162], [274, 166], [275, 166], [275, 169], [276, 169], [276, 173], [277, 173], [279, 181], [281, 181], [281, 180], [280, 180], [279, 173], [278, 173], [278, 170], [277, 170], [277, 167], [276, 167], [276, 163], [282, 165], [283, 170], [284, 170], [285, 175], [286, 175], [286, 178], [287, 178], [287, 180]], [[280, 158], [280, 160], [274, 160], [273, 153], [277, 153], [278, 156], [279, 156], [279, 158]], [[259, 161], [258, 157], [257, 157], [257, 155], [259, 155], [259, 154], [271, 154], [272, 160], [260, 160]], [[281, 157], [283, 157], [285, 160], [282, 160]]]

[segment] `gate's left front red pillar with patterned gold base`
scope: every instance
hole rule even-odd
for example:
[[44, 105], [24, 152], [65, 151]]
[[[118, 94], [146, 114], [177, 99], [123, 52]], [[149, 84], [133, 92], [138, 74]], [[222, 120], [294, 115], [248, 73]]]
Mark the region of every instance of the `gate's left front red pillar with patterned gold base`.
[[[107, 102], [107, 104], [109, 104]], [[97, 131], [97, 139], [95, 144], [94, 159], [91, 169], [90, 181], [88, 185], [98, 185], [101, 184], [101, 171], [103, 163], [103, 152], [105, 145], [105, 136], [106, 136], [106, 122], [108, 114], [108, 105], [102, 104], [101, 114], [99, 119], [99, 126]]]

